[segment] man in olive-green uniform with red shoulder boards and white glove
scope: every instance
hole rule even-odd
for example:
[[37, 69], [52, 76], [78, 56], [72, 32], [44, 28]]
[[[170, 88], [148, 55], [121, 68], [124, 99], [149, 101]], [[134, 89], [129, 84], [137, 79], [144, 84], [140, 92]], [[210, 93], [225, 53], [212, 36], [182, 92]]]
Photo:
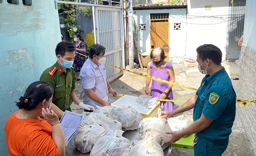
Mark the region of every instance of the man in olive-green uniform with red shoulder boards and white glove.
[[65, 110], [71, 111], [70, 105], [74, 101], [83, 109], [95, 111], [94, 107], [81, 102], [74, 91], [76, 76], [75, 71], [71, 69], [75, 59], [74, 44], [67, 41], [60, 42], [55, 54], [57, 62], [47, 68], [40, 77], [40, 81], [45, 81], [54, 88], [51, 109], [61, 118]]

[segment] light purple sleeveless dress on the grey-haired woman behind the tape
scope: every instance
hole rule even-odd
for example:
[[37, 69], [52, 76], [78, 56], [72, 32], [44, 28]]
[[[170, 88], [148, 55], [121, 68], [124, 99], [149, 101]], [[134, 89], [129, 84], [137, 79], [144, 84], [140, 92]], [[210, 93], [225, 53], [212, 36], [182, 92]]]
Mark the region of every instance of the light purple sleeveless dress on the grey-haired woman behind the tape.
[[[171, 81], [170, 75], [167, 71], [168, 68], [172, 67], [171, 62], [167, 62], [165, 67], [162, 69], [156, 69], [153, 67], [153, 61], [150, 63], [150, 71], [151, 71], [151, 76], [160, 78], [166, 81]], [[169, 84], [162, 83], [156, 80], [152, 80], [152, 86], [151, 86], [151, 96], [153, 97], [158, 97], [158, 99], [161, 99], [161, 94], [168, 88]], [[173, 93], [172, 93], [172, 88], [170, 91], [167, 93], [167, 96], [165, 99], [168, 100], [173, 100]], [[170, 101], [161, 101], [161, 103], [164, 104], [164, 109], [166, 111], [173, 111], [174, 110], [174, 102]], [[168, 120], [169, 118], [167, 118]]]

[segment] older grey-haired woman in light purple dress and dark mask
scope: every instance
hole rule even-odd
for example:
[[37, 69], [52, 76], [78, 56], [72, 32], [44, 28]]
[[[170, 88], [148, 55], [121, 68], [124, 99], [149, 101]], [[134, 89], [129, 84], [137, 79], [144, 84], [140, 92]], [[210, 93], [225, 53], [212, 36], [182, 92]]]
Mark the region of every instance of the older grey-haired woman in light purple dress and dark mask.
[[[149, 62], [147, 68], [147, 75], [160, 78], [163, 80], [171, 81], [172, 83], [175, 82], [174, 70], [172, 67], [172, 63], [168, 61], [164, 61], [166, 58], [163, 48], [156, 47], [150, 53], [150, 58], [153, 60]], [[149, 84], [151, 79], [146, 79], [146, 89], [145, 93], [148, 95], [149, 91]], [[168, 99], [173, 100], [173, 93], [172, 93], [172, 86], [166, 83], [162, 83], [156, 80], [152, 80], [151, 85], [151, 96], [158, 97], [158, 99]], [[174, 102], [170, 101], [161, 101], [164, 104], [164, 108], [166, 111], [173, 111], [174, 110]], [[169, 118], [167, 118], [169, 119]]]

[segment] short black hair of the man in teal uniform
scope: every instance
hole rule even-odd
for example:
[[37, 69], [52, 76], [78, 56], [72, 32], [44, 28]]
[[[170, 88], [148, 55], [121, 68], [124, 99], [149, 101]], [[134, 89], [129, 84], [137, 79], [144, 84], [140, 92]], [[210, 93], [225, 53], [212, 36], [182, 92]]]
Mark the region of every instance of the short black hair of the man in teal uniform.
[[221, 50], [212, 44], [204, 44], [196, 48], [196, 52], [202, 61], [209, 59], [215, 64], [219, 65], [222, 61]]

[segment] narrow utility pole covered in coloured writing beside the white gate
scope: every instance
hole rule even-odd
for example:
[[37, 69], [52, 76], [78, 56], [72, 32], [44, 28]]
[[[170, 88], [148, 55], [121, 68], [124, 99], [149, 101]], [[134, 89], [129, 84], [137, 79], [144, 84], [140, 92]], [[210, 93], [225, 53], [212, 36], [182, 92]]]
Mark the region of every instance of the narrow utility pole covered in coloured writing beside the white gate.
[[130, 8], [128, 10], [128, 34], [129, 34], [129, 68], [134, 69], [134, 55], [133, 55], [133, 0], [130, 1]]

